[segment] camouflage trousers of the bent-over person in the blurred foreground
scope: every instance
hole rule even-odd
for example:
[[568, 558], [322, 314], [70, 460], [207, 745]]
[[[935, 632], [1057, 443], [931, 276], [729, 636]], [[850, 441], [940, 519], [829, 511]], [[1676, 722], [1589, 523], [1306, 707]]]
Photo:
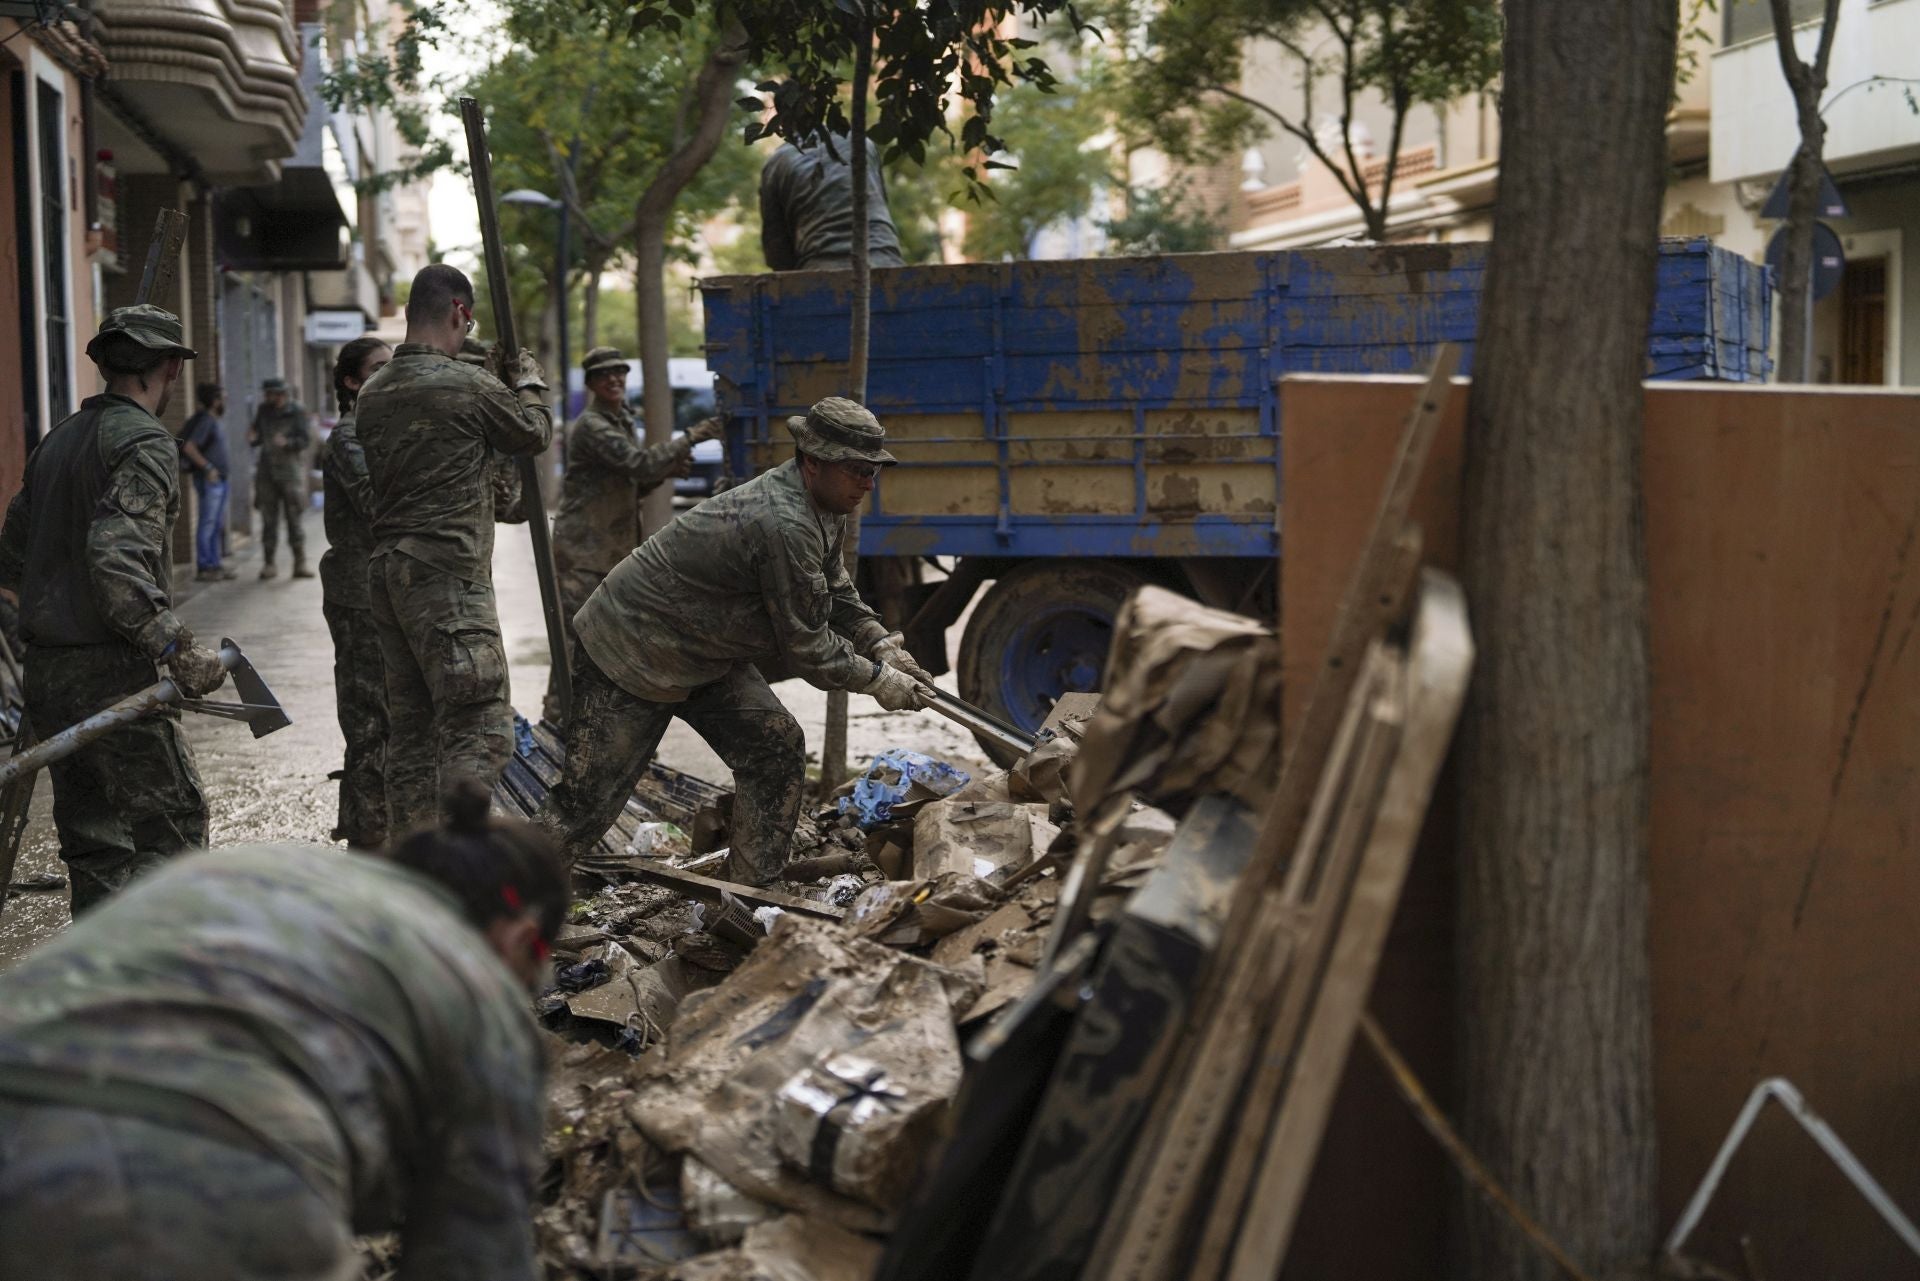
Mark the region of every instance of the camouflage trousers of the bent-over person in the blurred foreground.
[[132, 1116], [0, 1099], [0, 1277], [355, 1281], [346, 1187]]

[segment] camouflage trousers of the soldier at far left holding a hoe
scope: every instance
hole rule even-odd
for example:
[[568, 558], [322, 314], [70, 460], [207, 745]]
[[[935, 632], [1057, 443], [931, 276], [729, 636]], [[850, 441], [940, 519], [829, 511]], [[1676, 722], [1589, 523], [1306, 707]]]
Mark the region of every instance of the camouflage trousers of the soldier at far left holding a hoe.
[[[27, 718], [50, 737], [156, 680], [154, 663], [121, 641], [36, 645], [27, 651]], [[207, 801], [177, 711], [125, 724], [46, 774], [75, 916], [140, 872], [207, 843]]]

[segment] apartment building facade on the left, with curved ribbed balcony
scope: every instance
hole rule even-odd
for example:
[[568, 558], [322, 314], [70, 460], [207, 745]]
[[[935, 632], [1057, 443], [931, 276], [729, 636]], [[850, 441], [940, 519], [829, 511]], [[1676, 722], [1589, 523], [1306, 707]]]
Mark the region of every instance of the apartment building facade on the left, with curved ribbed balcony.
[[[396, 278], [426, 255], [424, 194], [353, 188], [355, 163], [397, 146], [392, 123], [336, 117], [319, 94], [346, 40], [380, 38], [363, 13], [346, 0], [0, 0], [0, 501], [98, 390], [86, 340], [134, 300], [163, 207], [188, 215], [188, 236], [154, 302], [200, 351], [190, 378], [227, 386], [230, 440], [271, 376], [330, 421], [338, 346], [394, 315]], [[175, 396], [167, 424], [192, 407], [190, 390]], [[234, 455], [228, 520], [246, 534], [252, 469]]]

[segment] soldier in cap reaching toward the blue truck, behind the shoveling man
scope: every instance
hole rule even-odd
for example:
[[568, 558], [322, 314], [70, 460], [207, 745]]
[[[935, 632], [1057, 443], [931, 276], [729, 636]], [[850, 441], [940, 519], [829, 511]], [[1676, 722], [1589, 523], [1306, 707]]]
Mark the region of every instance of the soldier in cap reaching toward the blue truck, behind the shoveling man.
[[[641, 446], [626, 405], [628, 363], [614, 348], [593, 348], [580, 361], [588, 407], [566, 428], [566, 474], [561, 511], [553, 517], [553, 570], [561, 588], [561, 616], [574, 640], [574, 615], [607, 572], [641, 544], [639, 501], [670, 476], [685, 476], [693, 446], [720, 434], [720, 419], [695, 424], [676, 440]], [[547, 686], [547, 720], [566, 709]]]

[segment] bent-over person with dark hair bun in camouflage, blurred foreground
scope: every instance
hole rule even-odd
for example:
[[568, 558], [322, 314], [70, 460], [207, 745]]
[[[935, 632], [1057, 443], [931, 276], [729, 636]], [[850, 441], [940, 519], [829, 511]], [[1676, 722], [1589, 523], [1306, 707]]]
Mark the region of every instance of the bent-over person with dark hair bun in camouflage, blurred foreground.
[[474, 789], [392, 858], [180, 858], [0, 985], [0, 1275], [534, 1281], [528, 991], [568, 887]]

